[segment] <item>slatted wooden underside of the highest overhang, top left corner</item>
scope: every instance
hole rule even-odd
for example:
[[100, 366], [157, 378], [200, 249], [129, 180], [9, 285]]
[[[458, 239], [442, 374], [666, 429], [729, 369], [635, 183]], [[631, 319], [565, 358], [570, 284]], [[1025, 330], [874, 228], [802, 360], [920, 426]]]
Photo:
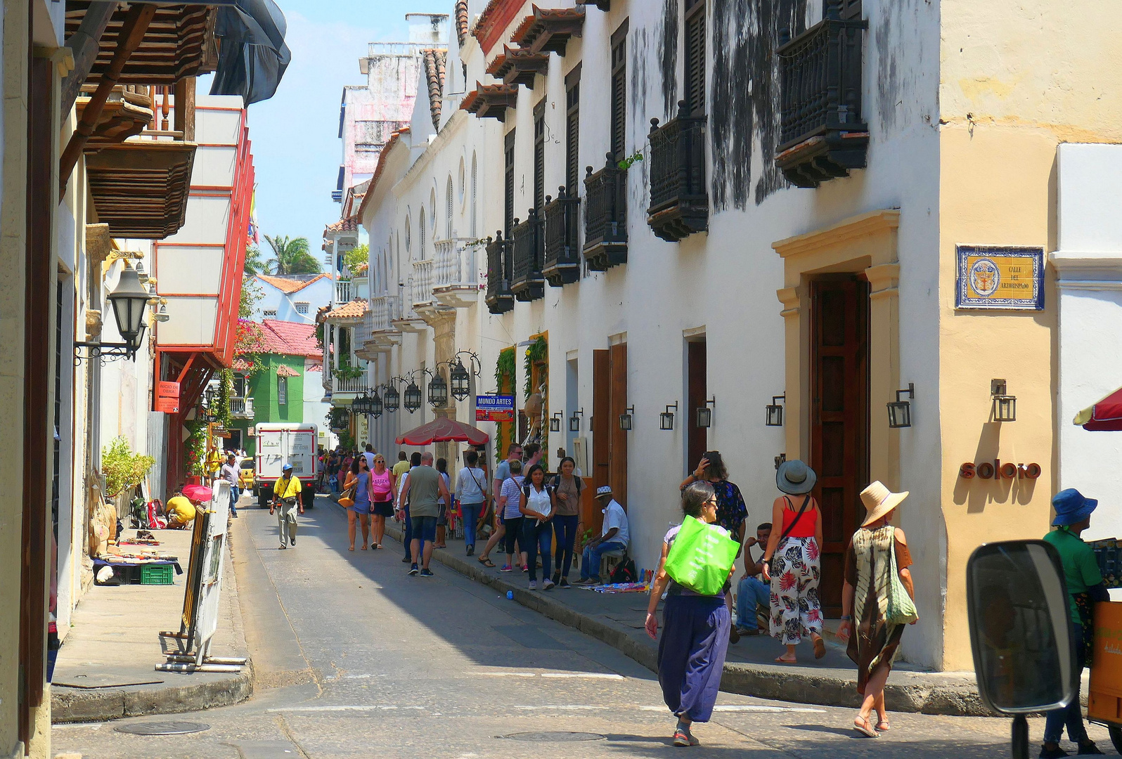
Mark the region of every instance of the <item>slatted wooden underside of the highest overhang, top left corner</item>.
[[[89, 6], [84, 0], [67, 0], [67, 37], [77, 31]], [[109, 19], [86, 84], [100, 83], [101, 75], [109, 68], [127, 13], [119, 9]], [[157, 7], [144, 41], [129, 56], [118, 83], [174, 84], [185, 76], [214, 71], [218, 64], [214, 13], [214, 8], [204, 4]]]

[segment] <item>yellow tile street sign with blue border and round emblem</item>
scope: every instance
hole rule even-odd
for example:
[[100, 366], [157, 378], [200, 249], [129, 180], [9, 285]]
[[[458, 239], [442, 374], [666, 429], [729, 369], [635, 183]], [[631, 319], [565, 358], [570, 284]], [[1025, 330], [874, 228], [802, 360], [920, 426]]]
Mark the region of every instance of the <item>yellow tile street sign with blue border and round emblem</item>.
[[956, 246], [955, 252], [955, 308], [1043, 311], [1043, 248]]

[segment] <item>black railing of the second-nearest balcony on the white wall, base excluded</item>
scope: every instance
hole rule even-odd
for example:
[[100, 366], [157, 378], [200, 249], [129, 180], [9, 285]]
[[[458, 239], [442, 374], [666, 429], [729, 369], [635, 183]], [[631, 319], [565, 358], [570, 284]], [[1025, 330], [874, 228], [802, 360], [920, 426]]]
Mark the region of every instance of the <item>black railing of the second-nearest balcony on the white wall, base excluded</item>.
[[686, 101], [678, 117], [660, 126], [651, 119], [651, 207], [647, 215], [707, 197], [705, 186], [703, 115], [687, 115]]

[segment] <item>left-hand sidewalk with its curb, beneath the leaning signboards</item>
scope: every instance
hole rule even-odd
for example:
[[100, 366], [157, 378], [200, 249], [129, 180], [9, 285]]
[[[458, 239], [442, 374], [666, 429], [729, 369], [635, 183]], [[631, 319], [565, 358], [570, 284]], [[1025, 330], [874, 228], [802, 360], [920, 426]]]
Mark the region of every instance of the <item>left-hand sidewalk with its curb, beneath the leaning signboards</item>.
[[[126, 536], [134, 534], [135, 530], [125, 530]], [[193, 712], [236, 704], [252, 693], [250, 665], [238, 674], [156, 672], [156, 665], [164, 661], [157, 633], [180, 629], [191, 531], [154, 530], [154, 534], [162, 552], [178, 556], [183, 574], [174, 576], [173, 585], [90, 589], [74, 610], [72, 629], [58, 650], [50, 686], [53, 722]], [[212, 655], [248, 658], [229, 554], [219, 604]]]

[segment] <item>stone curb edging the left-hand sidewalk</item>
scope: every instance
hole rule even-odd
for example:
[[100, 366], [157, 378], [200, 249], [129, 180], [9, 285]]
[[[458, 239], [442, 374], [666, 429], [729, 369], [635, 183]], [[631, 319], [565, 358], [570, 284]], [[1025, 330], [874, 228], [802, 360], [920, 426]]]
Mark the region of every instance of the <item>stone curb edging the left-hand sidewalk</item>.
[[[238, 602], [238, 581], [233, 572], [232, 542], [230, 554], [227, 554], [227, 566], [222, 578], [222, 593], [226, 596], [222, 605], [231, 611], [233, 627], [234, 656], [249, 659], [249, 646], [246, 644], [245, 630], [241, 626], [241, 607]], [[153, 635], [156, 635], [153, 630]], [[229, 654], [223, 654], [229, 656]], [[66, 722], [105, 722], [129, 716], [147, 716], [151, 714], [180, 714], [199, 712], [218, 706], [230, 706], [248, 701], [254, 694], [252, 661], [247, 661], [240, 673], [224, 676], [206, 674], [180, 675], [160, 673], [167, 678], [158, 685], [134, 685], [116, 688], [50, 688], [50, 721], [55, 724]], [[190, 678], [206, 677], [204, 682], [191, 682]], [[183, 685], [173, 684], [173, 678], [184, 678]]]

